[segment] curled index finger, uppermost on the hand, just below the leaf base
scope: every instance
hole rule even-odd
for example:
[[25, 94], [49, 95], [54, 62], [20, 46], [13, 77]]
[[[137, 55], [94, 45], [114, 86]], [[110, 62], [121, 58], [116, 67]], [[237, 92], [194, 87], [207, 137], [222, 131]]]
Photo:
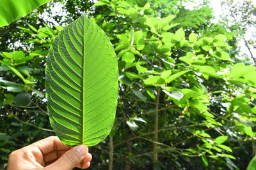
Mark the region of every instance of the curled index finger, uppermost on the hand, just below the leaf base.
[[38, 147], [44, 155], [54, 150], [68, 150], [72, 148], [61, 143], [57, 136], [50, 136], [48, 138], [37, 141], [36, 143], [33, 143], [33, 145]]

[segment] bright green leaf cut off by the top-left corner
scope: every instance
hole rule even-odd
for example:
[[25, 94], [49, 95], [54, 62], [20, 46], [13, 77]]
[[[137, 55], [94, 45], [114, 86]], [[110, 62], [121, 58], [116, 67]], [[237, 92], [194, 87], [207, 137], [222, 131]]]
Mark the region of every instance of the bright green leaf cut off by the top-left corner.
[[1, 0], [0, 27], [31, 13], [42, 4], [51, 0]]

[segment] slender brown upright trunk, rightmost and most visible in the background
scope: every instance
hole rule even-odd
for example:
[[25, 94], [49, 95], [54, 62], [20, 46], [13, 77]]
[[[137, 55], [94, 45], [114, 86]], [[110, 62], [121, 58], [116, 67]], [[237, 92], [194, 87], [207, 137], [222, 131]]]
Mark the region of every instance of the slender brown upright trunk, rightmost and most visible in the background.
[[160, 89], [157, 87], [157, 97], [156, 97], [156, 112], [154, 117], [154, 143], [153, 143], [153, 169], [156, 170], [156, 162], [158, 160], [157, 155], [157, 142], [158, 142], [158, 107], [159, 107], [159, 97], [160, 97]]

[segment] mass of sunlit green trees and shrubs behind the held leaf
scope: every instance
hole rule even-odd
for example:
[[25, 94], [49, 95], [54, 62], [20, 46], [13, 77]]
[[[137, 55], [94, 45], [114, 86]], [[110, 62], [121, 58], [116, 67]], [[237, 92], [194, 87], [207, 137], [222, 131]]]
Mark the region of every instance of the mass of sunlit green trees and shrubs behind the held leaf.
[[[227, 1], [216, 23], [207, 1], [195, 10], [182, 0], [51, 1], [1, 27], [0, 167], [54, 135], [45, 61], [61, 26], [85, 11], [111, 39], [120, 72], [115, 125], [90, 148], [90, 169], [246, 169], [256, 150], [255, 59], [237, 47], [255, 24], [246, 2]], [[252, 12], [230, 22], [237, 9]]]

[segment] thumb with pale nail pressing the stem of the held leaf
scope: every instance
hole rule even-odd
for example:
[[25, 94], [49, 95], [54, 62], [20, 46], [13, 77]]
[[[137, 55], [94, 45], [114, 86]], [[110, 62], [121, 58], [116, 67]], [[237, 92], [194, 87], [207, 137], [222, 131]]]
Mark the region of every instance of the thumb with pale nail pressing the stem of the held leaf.
[[56, 160], [51, 164], [50, 169], [61, 169], [61, 170], [70, 170], [79, 164], [84, 156], [88, 153], [88, 148], [85, 145], [78, 145], [66, 153], [64, 153], [60, 159]]

